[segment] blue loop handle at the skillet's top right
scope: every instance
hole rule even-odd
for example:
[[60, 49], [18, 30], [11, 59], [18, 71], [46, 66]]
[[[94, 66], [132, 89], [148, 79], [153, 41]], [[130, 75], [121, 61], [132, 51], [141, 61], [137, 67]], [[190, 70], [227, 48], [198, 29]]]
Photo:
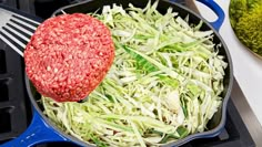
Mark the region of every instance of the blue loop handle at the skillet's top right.
[[199, 2], [205, 4], [218, 15], [218, 20], [210, 22], [210, 24], [219, 31], [224, 21], [224, 11], [214, 0], [198, 0]]

